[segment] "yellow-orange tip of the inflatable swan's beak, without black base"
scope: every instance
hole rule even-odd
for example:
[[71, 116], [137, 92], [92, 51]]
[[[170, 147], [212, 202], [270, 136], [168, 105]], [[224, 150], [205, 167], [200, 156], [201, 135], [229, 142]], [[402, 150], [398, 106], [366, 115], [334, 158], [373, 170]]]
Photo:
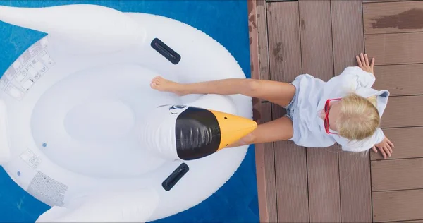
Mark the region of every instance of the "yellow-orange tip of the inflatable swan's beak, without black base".
[[219, 123], [221, 142], [218, 151], [248, 135], [257, 128], [257, 123], [241, 116], [211, 111]]

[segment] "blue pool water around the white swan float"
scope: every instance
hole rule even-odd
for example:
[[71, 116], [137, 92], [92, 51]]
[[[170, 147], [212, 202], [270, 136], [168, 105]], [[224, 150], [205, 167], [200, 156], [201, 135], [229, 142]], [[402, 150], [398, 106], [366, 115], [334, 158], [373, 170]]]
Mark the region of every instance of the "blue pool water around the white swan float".
[[[153, 13], [188, 23], [228, 49], [247, 77], [250, 52], [247, 1], [1, 1], [3, 6], [42, 7], [98, 4], [119, 11]], [[0, 22], [0, 73], [44, 33]], [[259, 222], [255, 155], [250, 147], [233, 177], [210, 198], [190, 210], [157, 222]], [[0, 168], [0, 222], [35, 222], [49, 206], [23, 191]]]

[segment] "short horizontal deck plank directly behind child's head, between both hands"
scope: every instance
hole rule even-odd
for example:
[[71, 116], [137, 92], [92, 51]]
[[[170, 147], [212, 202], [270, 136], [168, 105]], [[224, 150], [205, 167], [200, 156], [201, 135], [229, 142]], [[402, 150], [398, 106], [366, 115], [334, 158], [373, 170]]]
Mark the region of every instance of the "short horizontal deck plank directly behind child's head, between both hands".
[[423, 126], [423, 95], [390, 97], [382, 128]]

